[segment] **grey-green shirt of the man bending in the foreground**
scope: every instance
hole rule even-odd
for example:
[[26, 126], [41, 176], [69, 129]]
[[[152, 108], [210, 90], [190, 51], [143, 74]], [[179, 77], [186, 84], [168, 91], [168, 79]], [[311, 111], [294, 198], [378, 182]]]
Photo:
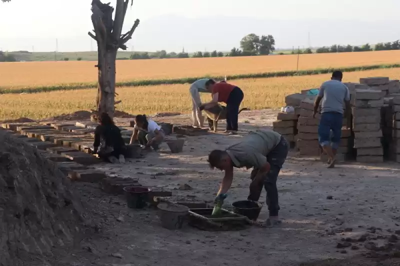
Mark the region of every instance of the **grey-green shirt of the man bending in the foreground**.
[[242, 141], [226, 149], [227, 154], [237, 168], [265, 165], [266, 156], [280, 142], [281, 135], [275, 131], [260, 129], [244, 136]]

